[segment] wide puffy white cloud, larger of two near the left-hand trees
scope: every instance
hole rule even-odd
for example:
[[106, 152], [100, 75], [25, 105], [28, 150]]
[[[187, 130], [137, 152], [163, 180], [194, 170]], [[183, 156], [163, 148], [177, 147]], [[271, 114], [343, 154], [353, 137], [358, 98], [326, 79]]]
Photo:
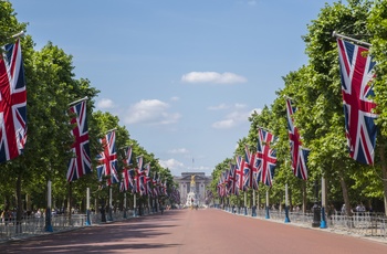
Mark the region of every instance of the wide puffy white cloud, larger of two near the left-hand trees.
[[169, 105], [158, 99], [142, 99], [132, 105], [125, 114], [125, 124], [174, 124], [179, 118], [178, 113], [169, 113]]

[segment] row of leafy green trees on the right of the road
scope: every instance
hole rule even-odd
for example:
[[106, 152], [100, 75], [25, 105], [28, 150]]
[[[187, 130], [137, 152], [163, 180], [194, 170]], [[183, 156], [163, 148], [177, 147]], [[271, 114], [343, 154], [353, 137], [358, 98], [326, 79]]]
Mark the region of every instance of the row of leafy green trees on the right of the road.
[[[366, 207], [378, 207], [387, 212], [387, 169], [386, 169], [386, 136], [387, 136], [387, 1], [348, 0], [325, 4], [317, 18], [307, 25], [307, 34], [303, 36], [308, 63], [297, 71], [283, 77], [284, 87], [276, 92], [276, 98], [261, 114], [250, 117], [251, 127], [247, 137], [239, 140], [234, 156], [244, 155], [244, 144], [257, 147], [258, 126], [270, 129], [279, 142], [275, 145], [278, 163], [270, 200], [278, 204], [284, 203], [285, 183], [290, 187], [291, 204], [303, 204], [315, 201], [315, 182], [324, 177], [327, 181], [327, 203], [336, 209], [346, 204], [347, 213], [357, 203]], [[345, 138], [345, 119], [341, 94], [341, 77], [336, 31], [373, 44], [370, 53], [377, 62], [375, 82], [375, 102], [379, 117], [377, 146], [374, 166], [360, 165], [349, 158]], [[290, 50], [292, 45], [286, 45]], [[308, 157], [308, 180], [303, 181], [292, 173], [285, 96], [297, 107], [294, 115], [303, 138], [304, 147], [311, 149]], [[221, 171], [229, 168], [226, 159], [212, 172], [212, 191], [216, 192], [217, 181]], [[303, 190], [306, 188], [306, 193]], [[268, 187], [261, 184], [259, 193]], [[251, 190], [248, 192], [251, 197]], [[232, 197], [231, 202], [241, 203], [243, 195]], [[308, 202], [307, 202], [308, 200]], [[384, 203], [384, 205], [383, 205]]]

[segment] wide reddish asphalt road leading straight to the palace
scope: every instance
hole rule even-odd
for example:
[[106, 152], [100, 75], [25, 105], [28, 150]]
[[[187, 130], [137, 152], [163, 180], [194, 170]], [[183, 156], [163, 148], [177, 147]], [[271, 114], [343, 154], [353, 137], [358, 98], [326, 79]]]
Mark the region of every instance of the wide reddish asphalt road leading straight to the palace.
[[380, 254], [387, 242], [206, 209], [10, 241], [0, 244], [0, 253]]

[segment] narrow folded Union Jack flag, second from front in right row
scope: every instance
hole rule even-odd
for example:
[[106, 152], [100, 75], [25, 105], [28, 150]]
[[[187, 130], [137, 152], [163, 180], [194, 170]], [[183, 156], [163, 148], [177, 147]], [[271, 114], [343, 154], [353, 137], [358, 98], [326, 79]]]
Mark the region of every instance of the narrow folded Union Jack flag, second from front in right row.
[[292, 102], [290, 98], [286, 99], [286, 113], [287, 113], [287, 129], [289, 139], [291, 145], [291, 156], [292, 156], [292, 169], [295, 177], [307, 180], [307, 157], [310, 151], [302, 147], [301, 137], [299, 129], [294, 126], [293, 114], [295, 108], [292, 107]]

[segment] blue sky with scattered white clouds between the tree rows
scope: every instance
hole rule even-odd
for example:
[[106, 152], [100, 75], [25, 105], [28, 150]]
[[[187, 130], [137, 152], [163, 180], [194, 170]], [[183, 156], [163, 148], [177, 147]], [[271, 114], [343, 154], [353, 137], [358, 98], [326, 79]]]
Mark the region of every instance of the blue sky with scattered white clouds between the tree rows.
[[35, 50], [52, 42], [72, 55], [75, 78], [101, 91], [96, 109], [130, 139], [174, 176], [210, 176], [248, 136], [251, 113], [307, 64], [302, 35], [333, 0], [10, 2]]

